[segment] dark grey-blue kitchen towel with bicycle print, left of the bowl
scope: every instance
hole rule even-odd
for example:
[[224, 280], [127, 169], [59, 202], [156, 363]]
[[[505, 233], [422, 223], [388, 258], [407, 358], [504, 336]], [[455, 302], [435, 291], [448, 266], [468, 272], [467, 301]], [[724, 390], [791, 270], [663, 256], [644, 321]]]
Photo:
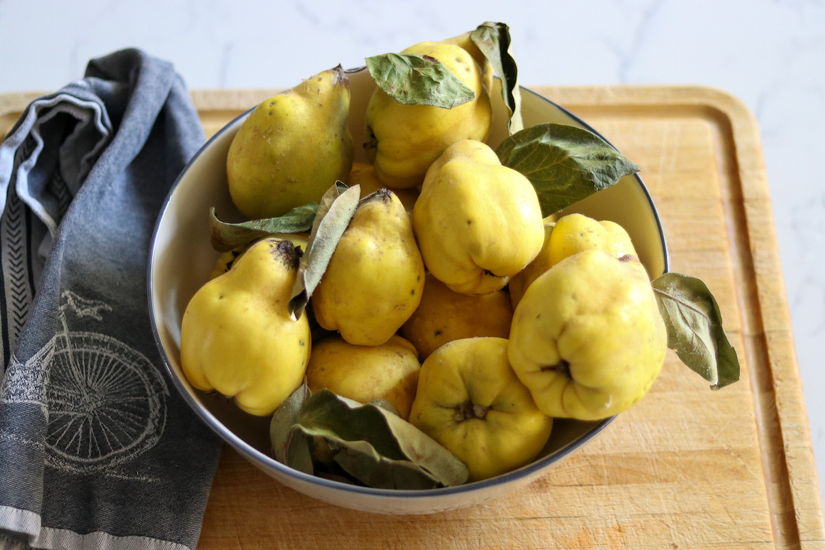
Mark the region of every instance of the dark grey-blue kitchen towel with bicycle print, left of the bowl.
[[194, 548], [220, 443], [148, 317], [158, 211], [204, 143], [138, 49], [33, 101], [0, 144], [0, 548]]

